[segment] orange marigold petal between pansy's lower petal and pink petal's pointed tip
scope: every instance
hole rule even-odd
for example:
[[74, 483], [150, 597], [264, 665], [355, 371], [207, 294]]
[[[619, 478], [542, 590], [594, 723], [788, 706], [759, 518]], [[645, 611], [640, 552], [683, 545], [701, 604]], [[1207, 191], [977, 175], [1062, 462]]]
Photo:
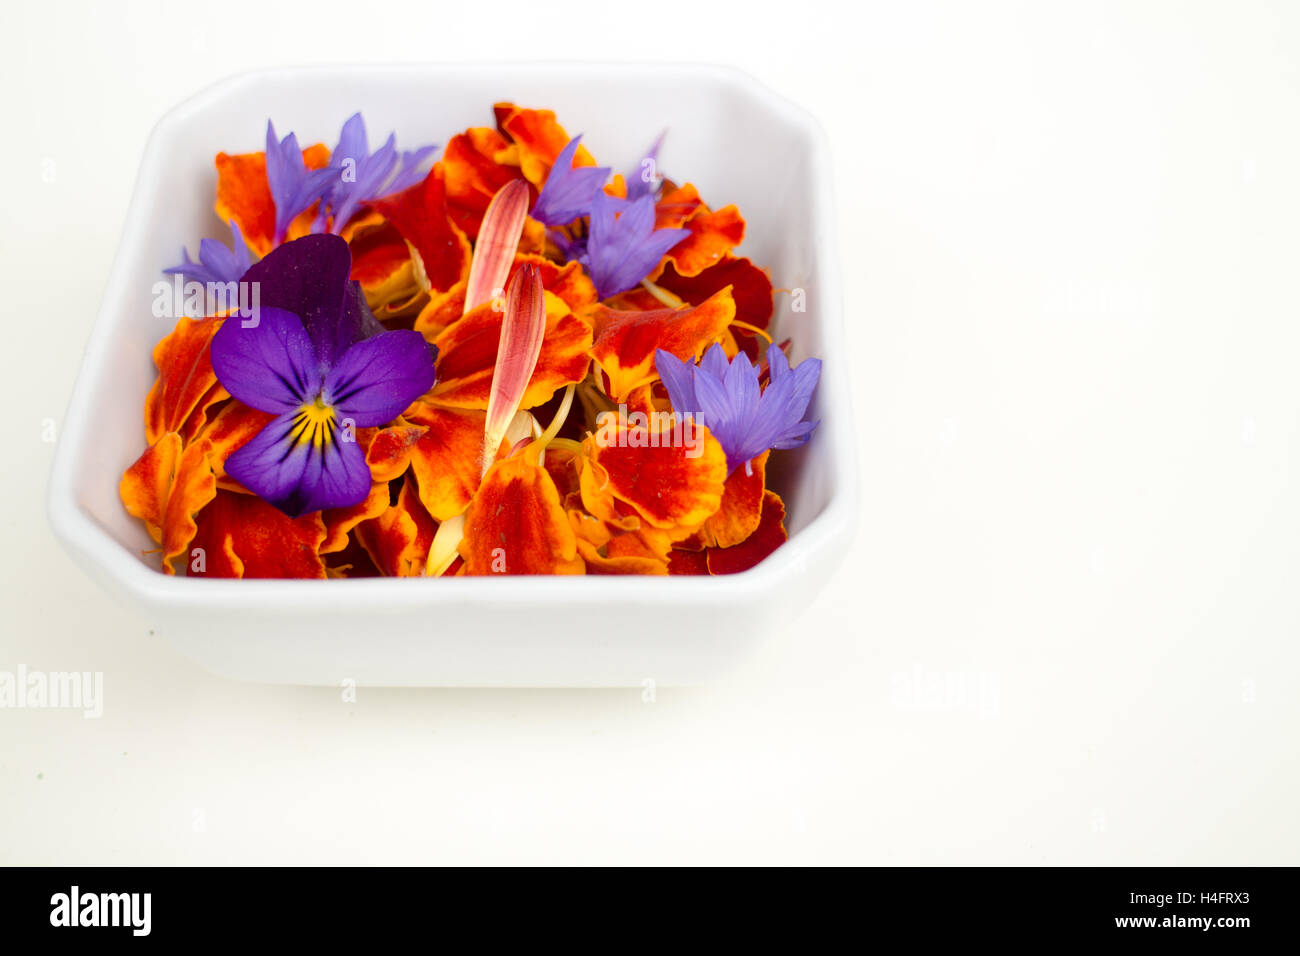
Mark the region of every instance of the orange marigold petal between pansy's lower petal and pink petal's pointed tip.
[[425, 428], [411, 450], [420, 501], [439, 522], [455, 518], [478, 488], [486, 414], [416, 403], [406, 416]]

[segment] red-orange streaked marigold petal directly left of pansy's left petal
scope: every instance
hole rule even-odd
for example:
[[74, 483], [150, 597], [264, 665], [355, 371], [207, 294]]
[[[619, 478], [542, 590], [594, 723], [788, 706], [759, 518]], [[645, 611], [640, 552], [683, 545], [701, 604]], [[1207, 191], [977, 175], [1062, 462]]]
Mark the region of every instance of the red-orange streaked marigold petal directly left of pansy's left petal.
[[144, 436], [150, 445], [166, 432], [188, 441], [202, 428], [207, 410], [230, 397], [212, 371], [208, 346], [221, 319], [182, 317], [153, 346], [159, 377], [144, 399]]

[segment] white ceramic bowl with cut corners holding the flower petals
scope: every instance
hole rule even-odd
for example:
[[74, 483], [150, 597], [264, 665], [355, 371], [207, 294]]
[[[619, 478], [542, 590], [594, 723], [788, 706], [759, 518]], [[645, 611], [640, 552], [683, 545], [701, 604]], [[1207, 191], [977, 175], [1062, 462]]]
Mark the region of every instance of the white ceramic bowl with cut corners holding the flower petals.
[[[741, 251], [777, 287], [805, 290], [806, 311], [779, 295], [774, 320], [793, 339], [792, 359], [826, 363], [814, 407], [820, 428], [805, 449], [774, 457], [789, 541], [758, 567], [719, 578], [200, 580], [146, 563], [152, 541], [117, 485], [144, 450], [151, 350], [173, 324], [153, 317], [151, 289], [182, 246], [228, 234], [212, 212], [213, 156], [261, 148], [268, 116], [282, 134], [333, 146], [356, 109], [376, 142], [394, 130], [399, 146], [446, 143], [467, 126], [491, 125], [499, 100], [556, 111], [616, 170], [633, 168], [667, 127], [660, 168], [696, 183], [715, 208], [740, 206], [749, 222]], [[53, 529], [182, 654], [230, 678], [443, 687], [707, 680], [793, 620], [857, 524], [829, 177], [826, 139], [809, 114], [712, 66], [359, 66], [218, 83], [164, 116], [146, 148], [55, 458]]]

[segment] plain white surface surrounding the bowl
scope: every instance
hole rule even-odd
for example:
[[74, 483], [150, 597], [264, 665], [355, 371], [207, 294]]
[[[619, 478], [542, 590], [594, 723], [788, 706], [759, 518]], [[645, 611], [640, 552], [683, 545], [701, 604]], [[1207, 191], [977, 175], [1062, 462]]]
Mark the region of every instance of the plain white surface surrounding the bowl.
[[[581, 7], [0, 8], [0, 670], [105, 682], [0, 710], [0, 862], [1300, 862], [1297, 8]], [[654, 702], [205, 675], [43, 514], [152, 124], [246, 68], [540, 57], [724, 61], [827, 126], [855, 549]]]

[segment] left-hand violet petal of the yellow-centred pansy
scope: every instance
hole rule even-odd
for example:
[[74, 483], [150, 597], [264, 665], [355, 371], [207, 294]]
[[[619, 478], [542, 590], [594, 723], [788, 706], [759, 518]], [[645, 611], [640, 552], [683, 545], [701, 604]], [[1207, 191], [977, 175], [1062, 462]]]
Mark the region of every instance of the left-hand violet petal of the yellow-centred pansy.
[[321, 386], [316, 350], [292, 312], [264, 306], [256, 321], [233, 316], [212, 337], [212, 368], [244, 405], [283, 414]]

